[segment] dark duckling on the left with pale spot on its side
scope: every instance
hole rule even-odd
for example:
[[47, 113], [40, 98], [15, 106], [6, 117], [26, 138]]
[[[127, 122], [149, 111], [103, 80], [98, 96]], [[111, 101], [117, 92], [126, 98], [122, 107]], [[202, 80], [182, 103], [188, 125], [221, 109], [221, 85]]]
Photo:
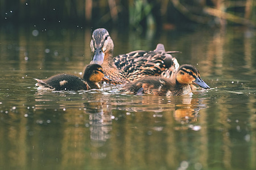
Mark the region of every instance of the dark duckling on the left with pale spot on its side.
[[48, 79], [38, 81], [36, 86], [38, 90], [55, 90], [55, 91], [79, 91], [79, 90], [90, 90], [93, 88], [100, 88], [99, 82], [105, 80], [110, 81], [109, 78], [104, 76], [102, 67], [98, 64], [88, 65], [85, 68], [83, 78], [69, 74], [58, 74], [53, 75]]

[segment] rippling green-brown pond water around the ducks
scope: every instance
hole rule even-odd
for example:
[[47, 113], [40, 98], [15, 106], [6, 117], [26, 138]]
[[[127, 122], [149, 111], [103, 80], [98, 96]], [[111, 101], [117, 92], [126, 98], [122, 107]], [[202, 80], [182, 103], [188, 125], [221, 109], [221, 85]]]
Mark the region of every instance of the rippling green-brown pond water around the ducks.
[[0, 169], [256, 169], [256, 32], [196, 30], [109, 30], [115, 55], [160, 42], [211, 87], [162, 97], [37, 91], [80, 75], [92, 31], [0, 27]]

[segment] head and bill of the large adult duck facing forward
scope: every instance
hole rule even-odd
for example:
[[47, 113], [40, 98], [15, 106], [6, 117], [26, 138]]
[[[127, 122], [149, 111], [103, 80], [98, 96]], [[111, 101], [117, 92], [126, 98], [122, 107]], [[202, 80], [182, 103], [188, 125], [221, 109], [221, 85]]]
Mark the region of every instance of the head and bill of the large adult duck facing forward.
[[98, 28], [93, 31], [90, 49], [93, 52], [93, 58], [90, 63], [102, 65], [109, 55], [113, 54], [114, 44], [105, 28]]

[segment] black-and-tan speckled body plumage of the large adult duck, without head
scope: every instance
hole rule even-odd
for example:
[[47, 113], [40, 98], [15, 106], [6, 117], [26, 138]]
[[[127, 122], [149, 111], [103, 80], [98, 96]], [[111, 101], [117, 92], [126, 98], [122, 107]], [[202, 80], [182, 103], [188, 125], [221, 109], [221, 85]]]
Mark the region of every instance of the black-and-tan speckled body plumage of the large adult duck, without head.
[[115, 66], [129, 81], [145, 75], [170, 77], [172, 71], [179, 67], [177, 59], [171, 56], [177, 52], [167, 53], [164, 47], [159, 50], [158, 46], [154, 51], [137, 50], [119, 55], [114, 58]]

